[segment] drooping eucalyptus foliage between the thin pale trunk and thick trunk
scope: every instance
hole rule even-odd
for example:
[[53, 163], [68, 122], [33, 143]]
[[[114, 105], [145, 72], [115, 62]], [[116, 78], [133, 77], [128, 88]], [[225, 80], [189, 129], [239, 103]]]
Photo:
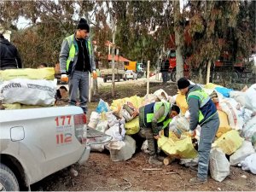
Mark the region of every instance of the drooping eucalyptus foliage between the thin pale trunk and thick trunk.
[[[150, 9], [148, 9], [150, 8]], [[172, 4], [169, 1], [131, 1], [119, 10], [117, 43], [133, 61], [150, 60], [166, 46], [173, 31]]]

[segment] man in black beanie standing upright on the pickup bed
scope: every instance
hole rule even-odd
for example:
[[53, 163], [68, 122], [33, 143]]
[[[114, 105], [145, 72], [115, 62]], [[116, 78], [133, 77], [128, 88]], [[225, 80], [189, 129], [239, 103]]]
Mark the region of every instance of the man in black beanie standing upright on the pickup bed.
[[79, 90], [79, 105], [84, 113], [87, 113], [89, 73], [93, 79], [97, 78], [89, 34], [90, 26], [81, 18], [74, 34], [64, 38], [60, 53], [61, 81], [68, 81], [69, 105], [76, 105]]

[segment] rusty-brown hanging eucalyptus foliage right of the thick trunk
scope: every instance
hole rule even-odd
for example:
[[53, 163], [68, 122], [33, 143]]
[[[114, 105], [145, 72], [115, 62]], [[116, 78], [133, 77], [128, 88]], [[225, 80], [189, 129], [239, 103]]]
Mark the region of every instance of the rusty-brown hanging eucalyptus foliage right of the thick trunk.
[[189, 57], [190, 68], [200, 72], [201, 82], [202, 70], [224, 51], [236, 61], [251, 50], [250, 45], [255, 43], [255, 2], [189, 1], [187, 7], [183, 16], [189, 24], [183, 28], [189, 32], [191, 42], [184, 44], [183, 54]]

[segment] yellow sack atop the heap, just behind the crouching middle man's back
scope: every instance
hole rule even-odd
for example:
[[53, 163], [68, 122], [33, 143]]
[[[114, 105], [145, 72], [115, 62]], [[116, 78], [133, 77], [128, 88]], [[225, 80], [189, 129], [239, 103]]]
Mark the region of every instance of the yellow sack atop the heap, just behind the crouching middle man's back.
[[140, 96], [125, 97], [123, 99], [113, 100], [110, 109], [113, 112], [119, 113], [120, 109], [126, 102], [131, 102], [135, 108], [140, 108], [143, 103], [143, 98]]

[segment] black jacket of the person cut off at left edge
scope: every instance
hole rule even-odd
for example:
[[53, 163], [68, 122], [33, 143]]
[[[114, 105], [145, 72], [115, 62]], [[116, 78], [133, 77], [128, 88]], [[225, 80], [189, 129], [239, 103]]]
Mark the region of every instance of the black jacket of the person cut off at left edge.
[[0, 70], [8, 68], [22, 68], [20, 54], [9, 40], [0, 38]]

